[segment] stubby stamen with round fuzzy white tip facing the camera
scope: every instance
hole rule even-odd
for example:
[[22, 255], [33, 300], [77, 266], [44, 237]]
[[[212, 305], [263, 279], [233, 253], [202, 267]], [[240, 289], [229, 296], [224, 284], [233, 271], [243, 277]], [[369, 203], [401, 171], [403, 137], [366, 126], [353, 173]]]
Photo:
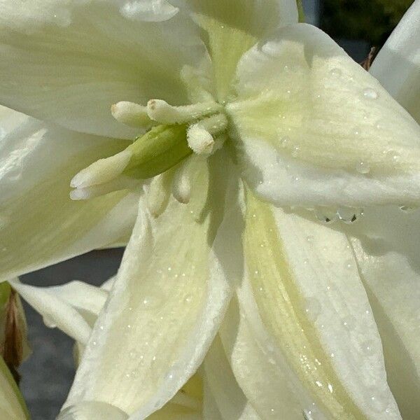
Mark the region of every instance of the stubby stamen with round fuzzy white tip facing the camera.
[[[188, 128], [188, 146], [197, 155], [211, 155], [221, 146], [220, 142], [216, 146], [213, 135], [221, 134], [227, 127], [228, 119], [222, 113], [205, 118], [200, 123], [193, 124]], [[215, 149], [215, 147], [217, 148]]]

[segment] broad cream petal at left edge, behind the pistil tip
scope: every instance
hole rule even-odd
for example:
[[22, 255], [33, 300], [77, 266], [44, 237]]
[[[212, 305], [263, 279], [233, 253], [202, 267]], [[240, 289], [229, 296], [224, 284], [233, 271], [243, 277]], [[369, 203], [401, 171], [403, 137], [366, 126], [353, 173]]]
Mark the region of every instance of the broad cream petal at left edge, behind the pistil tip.
[[48, 127], [34, 120], [0, 142], [0, 279], [8, 280], [127, 235], [138, 194], [69, 199], [70, 180], [125, 141]]

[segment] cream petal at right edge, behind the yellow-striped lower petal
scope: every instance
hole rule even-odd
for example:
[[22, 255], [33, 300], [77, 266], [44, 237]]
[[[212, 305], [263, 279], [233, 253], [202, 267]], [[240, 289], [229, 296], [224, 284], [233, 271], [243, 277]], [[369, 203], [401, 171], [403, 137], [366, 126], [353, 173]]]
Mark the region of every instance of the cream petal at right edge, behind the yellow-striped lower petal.
[[420, 214], [368, 209], [351, 226], [354, 252], [384, 346], [388, 382], [403, 419], [420, 402]]

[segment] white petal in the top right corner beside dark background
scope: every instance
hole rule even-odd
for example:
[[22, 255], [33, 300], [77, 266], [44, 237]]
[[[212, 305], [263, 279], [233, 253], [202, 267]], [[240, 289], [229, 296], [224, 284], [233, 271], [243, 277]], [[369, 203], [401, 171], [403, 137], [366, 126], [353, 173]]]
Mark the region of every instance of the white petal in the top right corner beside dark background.
[[370, 73], [420, 123], [420, 1], [409, 8]]

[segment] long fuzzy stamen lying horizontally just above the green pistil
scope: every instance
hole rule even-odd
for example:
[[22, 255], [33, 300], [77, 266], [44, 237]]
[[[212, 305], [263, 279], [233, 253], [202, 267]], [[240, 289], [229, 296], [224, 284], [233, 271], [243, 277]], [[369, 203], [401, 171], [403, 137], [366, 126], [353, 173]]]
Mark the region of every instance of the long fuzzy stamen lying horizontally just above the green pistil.
[[160, 124], [188, 123], [221, 110], [222, 106], [216, 102], [172, 106], [160, 99], [151, 99], [147, 104], [148, 116]]

